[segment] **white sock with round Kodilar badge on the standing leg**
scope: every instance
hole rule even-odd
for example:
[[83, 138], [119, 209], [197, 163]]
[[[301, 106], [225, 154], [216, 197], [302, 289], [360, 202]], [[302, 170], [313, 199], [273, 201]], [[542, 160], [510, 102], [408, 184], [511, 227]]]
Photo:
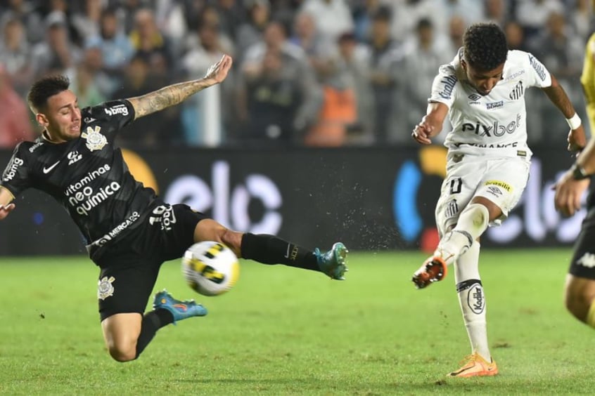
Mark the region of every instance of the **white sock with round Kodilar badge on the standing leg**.
[[492, 361], [487, 344], [485, 294], [479, 275], [480, 244], [475, 242], [454, 264], [454, 280], [463, 322], [471, 343], [471, 351], [478, 352], [487, 362]]

